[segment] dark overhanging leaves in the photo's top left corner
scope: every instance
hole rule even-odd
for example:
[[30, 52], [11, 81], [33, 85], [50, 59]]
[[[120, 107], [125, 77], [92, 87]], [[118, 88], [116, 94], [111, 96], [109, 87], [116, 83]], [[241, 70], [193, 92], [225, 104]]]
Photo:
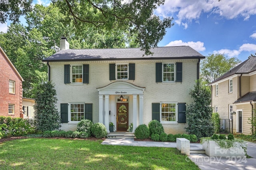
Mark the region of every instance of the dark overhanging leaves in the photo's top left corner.
[[19, 18], [31, 10], [33, 0], [1, 0], [0, 1], [0, 22], [7, 20], [14, 23], [19, 22]]

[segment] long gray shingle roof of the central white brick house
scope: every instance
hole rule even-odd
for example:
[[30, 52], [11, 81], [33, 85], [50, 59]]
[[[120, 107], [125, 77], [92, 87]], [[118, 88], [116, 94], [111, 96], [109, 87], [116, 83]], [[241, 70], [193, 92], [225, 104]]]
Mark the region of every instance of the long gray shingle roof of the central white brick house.
[[131, 59], [202, 59], [202, 54], [189, 46], [151, 48], [153, 55], [144, 55], [140, 48], [66, 49], [60, 50], [43, 61], [131, 60]]

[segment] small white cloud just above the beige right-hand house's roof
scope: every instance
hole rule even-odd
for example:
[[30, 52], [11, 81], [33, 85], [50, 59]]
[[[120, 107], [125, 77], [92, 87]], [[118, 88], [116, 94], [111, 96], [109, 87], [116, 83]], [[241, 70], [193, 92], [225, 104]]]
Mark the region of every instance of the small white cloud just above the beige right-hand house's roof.
[[220, 54], [225, 54], [228, 57], [237, 57], [242, 51], [255, 51], [256, 50], [256, 44], [252, 44], [252, 43], [244, 43], [243, 45], [241, 45], [239, 47], [238, 50], [233, 49], [220, 49], [220, 50], [216, 50], [213, 51], [213, 53], [220, 53]]

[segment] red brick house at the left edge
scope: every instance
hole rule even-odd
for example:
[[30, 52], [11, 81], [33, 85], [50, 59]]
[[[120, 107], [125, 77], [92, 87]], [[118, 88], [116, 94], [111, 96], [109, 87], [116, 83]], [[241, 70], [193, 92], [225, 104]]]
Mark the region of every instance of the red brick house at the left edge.
[[20, 117], [24, 80], [1, 47], [0, 77], [0, 116]]

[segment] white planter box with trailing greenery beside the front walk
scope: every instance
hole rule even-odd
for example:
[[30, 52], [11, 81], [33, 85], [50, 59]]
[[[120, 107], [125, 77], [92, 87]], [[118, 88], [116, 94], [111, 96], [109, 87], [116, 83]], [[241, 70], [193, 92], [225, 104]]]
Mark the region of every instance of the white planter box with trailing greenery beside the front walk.
[[[215, 141], [209, 140], [203, 143], [203, 149], [205, 150], [205, 154], [208, 156], [245, 156], [244, 147], [246, 143], [235, 142], [236, 147], [232, 147], [229, 149], [220, 148], [220, 145]], [[247, 146], [246, 146], [247, 149]]]

